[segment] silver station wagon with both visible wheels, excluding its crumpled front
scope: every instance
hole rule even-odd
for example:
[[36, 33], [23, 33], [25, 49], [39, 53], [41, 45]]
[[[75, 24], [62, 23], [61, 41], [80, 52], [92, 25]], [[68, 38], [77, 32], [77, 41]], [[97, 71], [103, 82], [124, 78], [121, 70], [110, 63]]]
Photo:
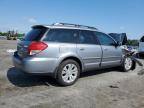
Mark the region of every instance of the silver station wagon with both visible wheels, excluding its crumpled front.
[[85, 71], [110, 67], [129, 71], [133, 60], [110, 35], [94, 27], [55, 23], [33, 26], [18, 42], [13, 63], [21, 71], [48, 74], [68, 86]]

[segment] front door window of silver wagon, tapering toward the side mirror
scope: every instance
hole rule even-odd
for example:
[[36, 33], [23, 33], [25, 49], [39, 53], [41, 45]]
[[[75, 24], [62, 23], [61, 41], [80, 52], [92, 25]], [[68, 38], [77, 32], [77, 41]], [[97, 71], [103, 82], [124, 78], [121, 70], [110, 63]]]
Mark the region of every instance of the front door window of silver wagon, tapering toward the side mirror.
[[114, 45], [115, 41], [108, 35], [101, 33], [101, 32], [95, 32], [97, 39], [99, 40], [101, 45]]

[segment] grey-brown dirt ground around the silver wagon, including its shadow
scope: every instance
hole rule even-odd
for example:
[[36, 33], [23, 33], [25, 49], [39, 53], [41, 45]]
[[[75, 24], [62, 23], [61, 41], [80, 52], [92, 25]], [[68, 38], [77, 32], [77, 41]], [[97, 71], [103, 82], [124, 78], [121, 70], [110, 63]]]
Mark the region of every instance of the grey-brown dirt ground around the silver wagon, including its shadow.
[[74, 85], [60, 87], [50, 77], [16, 70], [14, 49], [16, 41], [0, 40], [0, 108], [144, 108], [139, 66], [126, 73], [117, 68], [86, 72]]

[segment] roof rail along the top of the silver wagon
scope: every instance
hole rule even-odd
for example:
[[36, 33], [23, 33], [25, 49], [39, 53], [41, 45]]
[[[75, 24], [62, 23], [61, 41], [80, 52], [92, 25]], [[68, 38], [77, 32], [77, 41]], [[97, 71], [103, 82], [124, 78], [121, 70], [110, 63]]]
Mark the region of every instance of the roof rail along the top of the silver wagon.
[[95, 27], [85, 26], [85, 25], [78, 25], [78, 24], [70, 24], [70, 23], [54, 23], [52, 25], [54, 25], [54, 26], [69, 26], [69, 27], [78, 27], [78, 28], [88, 28], [88, 29], [97, 30], [97, 28], [95, 28]]

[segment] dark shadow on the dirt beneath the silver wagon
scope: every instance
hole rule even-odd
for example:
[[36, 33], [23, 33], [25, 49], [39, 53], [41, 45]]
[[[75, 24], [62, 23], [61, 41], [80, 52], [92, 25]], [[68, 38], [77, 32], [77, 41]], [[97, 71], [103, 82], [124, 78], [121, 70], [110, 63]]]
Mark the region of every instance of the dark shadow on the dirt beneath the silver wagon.
[[[117, 68], [102, 69], [96, 71], [83, 72], [80, 78], [117, 71]], [[117, 71], [118, 72], [118, 71]], [[9, 68], [7, 71], [8, 80], [18, 87], [32, 87], [32, 86], [59, 86], [56, 80], [50, 76], [26, 74], [17, 70], [15, 67]]]

